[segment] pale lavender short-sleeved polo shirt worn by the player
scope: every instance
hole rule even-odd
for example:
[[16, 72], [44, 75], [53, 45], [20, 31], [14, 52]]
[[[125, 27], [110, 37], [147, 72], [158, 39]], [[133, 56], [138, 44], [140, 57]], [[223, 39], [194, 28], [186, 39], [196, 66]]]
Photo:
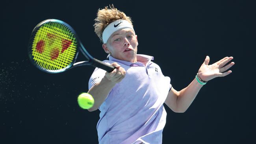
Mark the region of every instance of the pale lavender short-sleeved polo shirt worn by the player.
[[[126, 75], [99, 107], [100, 119], [96, 126], [99, 144], [162, 143], [166, 122], [163, 103], [171, 89], [171, 80], [151, 61], [154, 57], [137, 54], [137, 59], [147, 64], [130, 63], [111, 56], [103, 61], [109, 65], [117, 62], [126, 70]], [[100, 82], [105, 72], [95, 68], [89, 89]]]

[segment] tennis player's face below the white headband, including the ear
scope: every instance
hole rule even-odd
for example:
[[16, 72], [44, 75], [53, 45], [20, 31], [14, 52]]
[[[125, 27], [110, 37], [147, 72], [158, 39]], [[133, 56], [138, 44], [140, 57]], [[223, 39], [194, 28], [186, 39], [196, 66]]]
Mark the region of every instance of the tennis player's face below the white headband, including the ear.
[[137, 35], [130, 28], [115, 31], [108, 39], [107, 44], [102, 44], [106, 53], [116, 59], [137, 62]]

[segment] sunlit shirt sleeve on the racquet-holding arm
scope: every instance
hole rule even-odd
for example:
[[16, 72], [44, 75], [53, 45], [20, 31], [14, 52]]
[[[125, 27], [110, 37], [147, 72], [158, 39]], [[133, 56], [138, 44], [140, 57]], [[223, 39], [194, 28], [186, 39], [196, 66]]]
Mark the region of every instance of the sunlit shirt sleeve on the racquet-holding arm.
[[[106, 64], [109, 64], [108, 62], [103, 61]], [[91, 78], [89, 79], [89, 83], [88, 83], [88, 89], [91, 89], [91, 87], [93, 87], [93, 85], [95, 85], [96, 83], [100, 82], [101, 79], [105, 76], [106, 70], [102, 70], [100, 68], [95, 68], [95, 70], [93, 71], [93, 74], [91, 75]]]

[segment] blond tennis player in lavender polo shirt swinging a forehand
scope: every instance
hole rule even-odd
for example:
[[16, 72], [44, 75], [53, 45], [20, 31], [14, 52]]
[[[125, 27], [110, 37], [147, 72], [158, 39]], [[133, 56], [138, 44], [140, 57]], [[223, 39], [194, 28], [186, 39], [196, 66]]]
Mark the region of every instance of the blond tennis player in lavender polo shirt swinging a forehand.
[[[132, 20], [113, 5], [99, 9], [95, 32], [109, 54], [104, 63], [113, 72], [96, 68], [89, 79], [89, 93], [100, 110], [97, 123], [100, 144], [161, 144], [166, 122], [165, 103], [176, 113], [184, 113], [207, 81], [230, 74], [233, 57], [208, 65], [210, 57], [195, 74], [195, 79], [177, 91], [170, 78], [162, 74], [154, 57], [137, 54], [137, 35]], [[226, 66], [224, 66], [226, 65]], [[227, 72], [224, 72], [228, 70]]]

